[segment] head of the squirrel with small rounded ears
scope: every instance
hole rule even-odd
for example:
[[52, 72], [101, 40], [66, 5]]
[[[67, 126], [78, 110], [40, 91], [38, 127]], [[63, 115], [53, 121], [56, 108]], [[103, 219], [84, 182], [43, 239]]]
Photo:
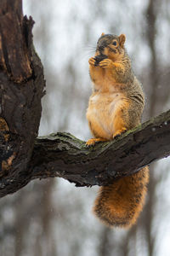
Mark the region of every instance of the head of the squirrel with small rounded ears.
[[107, 55], [112, 61], [116, 61], [124, 55], [124, 43], [126, 37], [102, 33], [98, 40], [95, 55]]

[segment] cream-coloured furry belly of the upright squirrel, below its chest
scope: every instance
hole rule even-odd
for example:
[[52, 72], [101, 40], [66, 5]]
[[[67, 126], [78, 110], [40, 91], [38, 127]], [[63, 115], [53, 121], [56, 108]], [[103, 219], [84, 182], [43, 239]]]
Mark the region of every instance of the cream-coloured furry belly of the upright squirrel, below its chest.
[[107, 140], [113, 138], [115, 132], [114, 119], [116, 110], [124, 100], [122, 93], [96, 93], [88, 103], [87, 119], [94, 137]]

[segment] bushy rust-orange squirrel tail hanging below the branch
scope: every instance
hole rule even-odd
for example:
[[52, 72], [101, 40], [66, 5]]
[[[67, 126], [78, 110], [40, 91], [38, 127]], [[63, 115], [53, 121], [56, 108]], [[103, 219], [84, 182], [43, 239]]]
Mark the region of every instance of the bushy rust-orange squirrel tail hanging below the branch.
[[148, 166], [99, 189], [94, 214], [106, 225], [129, 228], [139, 217], [149, 182]]

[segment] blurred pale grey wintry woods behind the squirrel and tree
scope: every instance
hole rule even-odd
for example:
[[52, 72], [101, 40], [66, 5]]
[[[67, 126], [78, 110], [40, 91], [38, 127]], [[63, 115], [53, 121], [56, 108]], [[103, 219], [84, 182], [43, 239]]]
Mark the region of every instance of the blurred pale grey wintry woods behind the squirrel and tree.
[[[47, 81], [39, 136], [90, 137], [88, 58], [101, 32], [127, 36], [146, 96], [143, 121], [170, 108], [170, 1], [24, 0], [23, 9], [36, 21], [34, 44]], [[169, 256], [169, 164], [150, 166], [147, 201], [131, 230], [110, 230], [94, 218], [97, 187], [75, 188], [61, 178], [29, 183], [0, 200], [0, 255]]]

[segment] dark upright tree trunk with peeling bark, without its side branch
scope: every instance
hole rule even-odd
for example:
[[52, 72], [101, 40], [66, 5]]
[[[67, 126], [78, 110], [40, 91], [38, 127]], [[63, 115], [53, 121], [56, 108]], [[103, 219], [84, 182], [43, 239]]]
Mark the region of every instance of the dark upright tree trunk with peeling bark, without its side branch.
[[[32, 44], [33, 23], [23, 17], [21, 0], [1, 0], [0, 178], [8, 177], [6, 183], [15, 179], [18, 186], [23, 183], [23, 174], [29, 175], [45, 85], [42, 64]], [[14, 191], [12, 186], [9, 190]]]

